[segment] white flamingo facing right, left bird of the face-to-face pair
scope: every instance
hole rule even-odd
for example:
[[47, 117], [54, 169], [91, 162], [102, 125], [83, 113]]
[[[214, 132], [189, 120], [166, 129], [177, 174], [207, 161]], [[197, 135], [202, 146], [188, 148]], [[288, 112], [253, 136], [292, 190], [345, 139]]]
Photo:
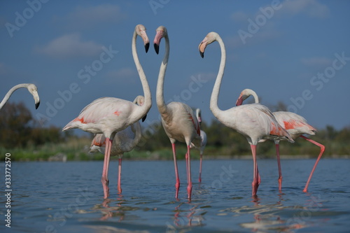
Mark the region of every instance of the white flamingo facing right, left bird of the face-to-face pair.
[[140, 36], [144, 41], [146, 52], [149, 48], [149, 40], [144, 25], [138, 24], [132, 36], [132, 56], [139, 72], [141, 85], [144, 90], [145, 101], [142, 106], [124, 99], [114, 97], [102, 97], [85, 106], [77, 118], [69, 122], [62, 130], [82, 129], [92, 134], [104, 134], [106, 138], [106, 150], [104, 153], [104, 168], [102, 171], [102, 185], [104, 198], [109, 197], [109, 158], [111, 156], [112, 141], [117, 132], [134, 124], [144, 117], [152, 106], [151, 90], [148, 85], [144, 69], [137, 55], [136, 39]]

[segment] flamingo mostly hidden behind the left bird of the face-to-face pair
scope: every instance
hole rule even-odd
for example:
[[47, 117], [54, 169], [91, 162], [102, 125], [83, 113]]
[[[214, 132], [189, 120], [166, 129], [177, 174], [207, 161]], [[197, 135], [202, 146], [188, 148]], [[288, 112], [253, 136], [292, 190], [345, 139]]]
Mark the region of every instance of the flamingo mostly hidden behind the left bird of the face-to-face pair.
[[[139, 95], [134, 99], [134, 104], [138, 104], [139, 106], [142, 106], [144, 104], [144, 97]], [[142, 118], [142, 121], [144, 121], [146, 116]], [[141, 125], [140, 122], [137, 121], [134, 124], [130, 125], [126, 129], [123, 129], [122, 131], [116, 133], [116, 136], [114, 136], [112, 148], [111, 148], [111, 156], [118, 155], [119, 159], [119, 165], [118, 165], [118, 193], [122, 193], [121, 188], [121, 176], [122, 176], [122, 158], [125, 152], [129, 152], [130, 150], [134, 149], [135, 146], [139, 143], [141, 140]], [[90, 147], [90, 153], [94, 152], [101, 152], [105, 153], [105, 147], [106, 147], [106, 138], [104, 134], [96, 134], [94, 136], [94, 139], [92, 140], [91, 147]]]

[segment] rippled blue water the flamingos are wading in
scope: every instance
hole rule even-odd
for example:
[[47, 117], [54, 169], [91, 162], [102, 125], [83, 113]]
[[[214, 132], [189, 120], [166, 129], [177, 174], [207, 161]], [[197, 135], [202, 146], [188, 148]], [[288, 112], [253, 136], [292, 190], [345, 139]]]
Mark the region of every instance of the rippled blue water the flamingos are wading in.
[[[12, 162], [11, 227], [1, 232], [349, 232], [350, 160], [321, 160], [302, 192], [314, 160], [258, 160], [262, 182], [251, 197], [251, 160], [193, 161], [193, 199], [186, 199], [186, 164], [174, 198], [172, 161], [124, 161], [123, 195], [117, 195], [118, 162], [109, 172], [110, 199], [103, 199], [102, 162]], [[5, 176], [1, 162], [1, 176]], [[4, 187], [4, 179], [3, 185]], [[6, 193], [5, 193], [6, 194]], [[5, 231], [4, 231], [5, 230]]]

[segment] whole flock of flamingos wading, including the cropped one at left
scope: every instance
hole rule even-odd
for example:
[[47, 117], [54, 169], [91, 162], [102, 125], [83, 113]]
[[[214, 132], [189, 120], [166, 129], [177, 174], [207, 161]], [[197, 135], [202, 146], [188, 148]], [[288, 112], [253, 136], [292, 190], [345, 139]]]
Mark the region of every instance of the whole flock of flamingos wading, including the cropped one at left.
[[[134, 101], [127, 101], [125, 99], [118, 99], [114, 97], [102, 97], [92, 101], [91, 104], [85, 106], [78, 117], [69, 122], [62, 130], [68, 129], [82, 129], [85, 132], [95, 134], [90, 147], [91, 152], [100, 151], [104, 153], [104, 166], [102, 171], [102, 186], [104, 189], [104, 198], [109, 197], [109, 160], [111, 156], [118, 155], [118, 193], [122, 192], [121, 188], [121, 168], [123, 153], [132, 150], [141, 139], [141, 125], [139, 120], [145, 120], [148, 111], [152, 106], [151, 90], [146, 79], [146, 75], [139, 62], [137, 55], [137, 36], [140, 36], [144, 41], [146, 52], [149, 48], [149, 39], [146, 34], [144, 25], [138, 24], [135, 27], [132, 36], [132, 56], [134, 58], [141, 85], [144, 91], [144, 96], [137, 96]], [[158, 54], [160, 48], [160, 41], [165, 38], [165, 55], [160, 65], [158, 76], [156, 102], [158, 111], [162, 117], [162, 126], [165, 129], [170, 142], [172, 143], [172, 152], [174, 156], [174, 168], [176, 176], [176, 199], [179, 197], [180, 179], [176, 162], [176, 141], [186, 143], [186, 172], [187, 172], [187, 193], [188, 199], [191, 199], [192, 193], [192, 178], [190, 166], [190, 149], [196, 148], [200, 150], [200, 176], [201, 182], [202, 174], [202, 155], [207, 143], [207, 135], [200, 129], [202, 122], [200, 109], [193, 112], [192, 108], [187, 104], [172, 101], [165, 104], [164, 99], [164, 80], [167, 71], [167, 64], [169, 59], [169, 36], [167, 29], [163, 26], [158, 27], [154, 38], [155, 52]], [[269, 111], [269, 108], [259, 104], [258, 95], [250, 89], [243, 90], [237, 99], [236, 106], [227, 110], [218, 108], [218, 94], [220, 92], [221, 81], [225, 70], [226, 54], [223, 40], [216, 32], [210, 32], [205, 36], [204, 40], [199, 45], [200, 55], [204, 57], [204, 51], [207, 45], [218, 41], [221, 48], [221, 62], [218, 70], [218, 75], [214, 84], [210, 99], [210, 109], [215, 117], [225, 126], [235, 129], [240, 134], [244, 135], [251, 146], [251, 153], [253, 155], [253, 182], [252, 195], [256, 196], [258, 186], [260, 185], [260, 175], [258, 171], [258, 163], [256, 160], [256, 146], [259, 142], [267, 139], [273, 140], [276, 145], [276, 157], [279, 167], [279, 191], [281, 191], [282, 174], [281, 163], [279, 158], [279, 141], [286, 140], [291, 143], [297, 137], [302, 137], [316, 146], [321, 148], [321, 152], [314, 164], [311, 174], [304, 187], [304, 192], [307, 192], [311, 176], [318, 164], [318, 161], [323, 155], [325, 147], [316, 141], [308, 139], [303, 134], [314, 135], [316, 129], [311, 127], [307, 121], [300, 115], [290, 112], [275, 112]], [[35, 106], [38, 108], [40, 100], [38, 97], [37, 88], [34, 84], [20, 84], [11, 88], [6, 96], [1, 101], [0, 109], [10, 95], [21, 87], [27, 87], [29, 92], [33, 95]], [[243, 101], [249, 96], [253, 96], [255, 104], [243, 104]]]

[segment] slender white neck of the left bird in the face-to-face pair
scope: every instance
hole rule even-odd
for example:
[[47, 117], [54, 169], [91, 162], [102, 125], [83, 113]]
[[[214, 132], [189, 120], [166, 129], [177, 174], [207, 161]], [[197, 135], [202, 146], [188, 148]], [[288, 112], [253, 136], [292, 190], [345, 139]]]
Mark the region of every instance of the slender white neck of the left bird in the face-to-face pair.
[[143, 116], [146, 113], [148, 113], [149, 109], [152, 106], [152, 97], [151, 97], [151, 90], [148, 85], [146, 75], [144, 73], [144, 69], [142, 69], [141, 63], [139, 61], [139, 56], [137, 55], [136, 39], [137, 39], [137, 32], [134, 31], [134, 35], [132, 36], [132, 57], [134, 58], [137, 72], [139, 73], [139, 77], [141, 80], [141, 85], [142, 85], [142, 89], [144, 91], [144, 97], [145, 97], [144, 105], [139, 106], [138, 109], [140, 109], [140, 112], [137, 113], [137, 115]]

